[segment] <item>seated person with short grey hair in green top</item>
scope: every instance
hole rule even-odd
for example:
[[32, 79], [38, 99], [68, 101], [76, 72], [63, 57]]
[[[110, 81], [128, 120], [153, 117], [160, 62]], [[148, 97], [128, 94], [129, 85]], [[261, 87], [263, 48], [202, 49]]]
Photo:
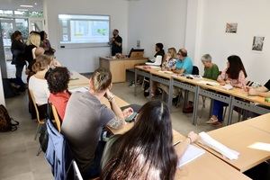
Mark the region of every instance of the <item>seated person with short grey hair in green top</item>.
[[216, 64], [211, 62], [210, 54], [204, 54], [201, 59], [204, 66], [203, 77], [217, 80], [218, 76], [220, 75], [220, 70]]

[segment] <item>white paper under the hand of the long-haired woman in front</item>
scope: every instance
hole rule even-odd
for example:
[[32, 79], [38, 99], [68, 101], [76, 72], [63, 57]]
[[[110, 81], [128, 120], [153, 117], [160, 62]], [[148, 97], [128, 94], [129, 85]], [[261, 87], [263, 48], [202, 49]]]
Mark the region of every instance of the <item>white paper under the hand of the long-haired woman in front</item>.
[[189, 145], [185, 150], [183, 157], [178, 160], [178, 167], [184, 166], [185, 164], [193, 161], [197, 157], [201, 157], [205, 153], [202, 148], [197, 148], [193, 145]]

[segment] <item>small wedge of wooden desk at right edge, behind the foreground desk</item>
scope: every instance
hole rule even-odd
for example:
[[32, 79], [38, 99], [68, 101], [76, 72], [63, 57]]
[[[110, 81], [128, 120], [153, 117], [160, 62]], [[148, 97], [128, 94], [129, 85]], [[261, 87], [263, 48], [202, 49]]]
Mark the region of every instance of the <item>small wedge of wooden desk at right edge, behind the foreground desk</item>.
[[241, 123], [250, 125], [258, 130], [266, 131], [270, 133], [270, 113], [258, 116], [256, 118], [252, 118], [247, 121], [242, 121]]

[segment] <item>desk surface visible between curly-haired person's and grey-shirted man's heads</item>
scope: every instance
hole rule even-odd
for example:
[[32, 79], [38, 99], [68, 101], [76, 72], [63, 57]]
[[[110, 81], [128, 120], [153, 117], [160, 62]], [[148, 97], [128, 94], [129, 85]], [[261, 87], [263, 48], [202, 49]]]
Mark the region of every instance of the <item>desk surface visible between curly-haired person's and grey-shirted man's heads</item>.
[[87, 77], [82, 76], [75, 71], [71, 72], [68, 87], [76, 88], [76, 87], [88, 86], [88, 85], [89, 85], [89, 79]]

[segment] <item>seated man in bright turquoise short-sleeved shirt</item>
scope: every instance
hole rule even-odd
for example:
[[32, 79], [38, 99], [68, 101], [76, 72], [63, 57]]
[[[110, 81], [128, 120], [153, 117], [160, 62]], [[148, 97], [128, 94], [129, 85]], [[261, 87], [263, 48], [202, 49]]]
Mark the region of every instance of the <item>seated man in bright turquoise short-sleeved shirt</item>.
[[178, 60], [173, 72], [176, 74], [191, 75], [193, 73], [193, 61], [187, 56], [186, 49], [179, 49], [177, 56]]

